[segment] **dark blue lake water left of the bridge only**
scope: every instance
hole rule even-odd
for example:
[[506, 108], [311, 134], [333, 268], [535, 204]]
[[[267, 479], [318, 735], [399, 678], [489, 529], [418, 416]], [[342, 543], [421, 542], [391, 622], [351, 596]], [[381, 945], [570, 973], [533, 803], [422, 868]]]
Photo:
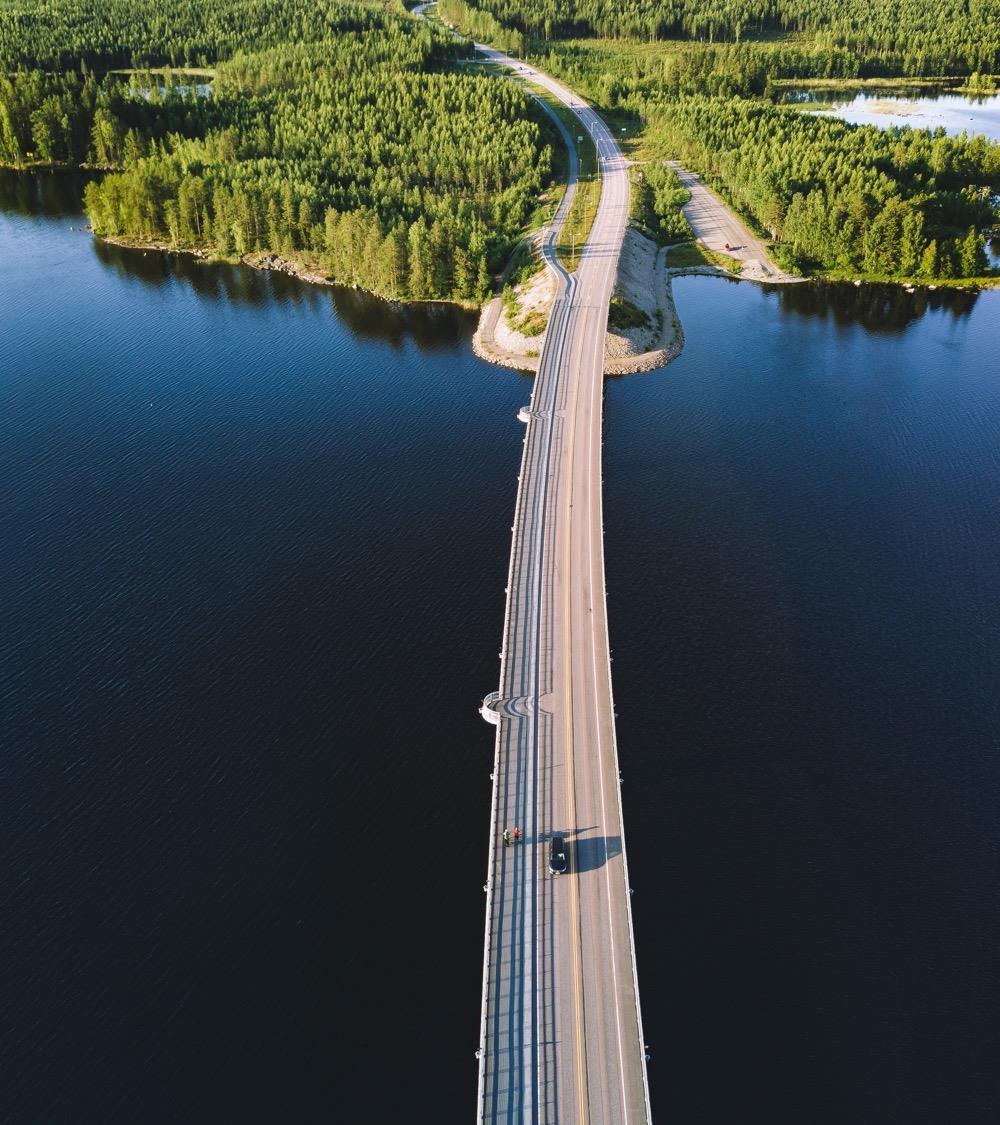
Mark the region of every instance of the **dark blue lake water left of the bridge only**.
[[467, 1119], [530, 385], [46, 189], [0, 215], [0, 1118]]

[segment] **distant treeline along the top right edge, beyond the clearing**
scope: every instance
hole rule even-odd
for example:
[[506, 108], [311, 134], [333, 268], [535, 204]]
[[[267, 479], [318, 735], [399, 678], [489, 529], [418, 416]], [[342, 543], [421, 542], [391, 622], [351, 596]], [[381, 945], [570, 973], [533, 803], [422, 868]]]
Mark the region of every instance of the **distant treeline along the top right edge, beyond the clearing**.
[[1000, 71], [1000, 0], [477, 0], [530, 39], [598, 35], [738, 43], [808, 33], [863, 73]]

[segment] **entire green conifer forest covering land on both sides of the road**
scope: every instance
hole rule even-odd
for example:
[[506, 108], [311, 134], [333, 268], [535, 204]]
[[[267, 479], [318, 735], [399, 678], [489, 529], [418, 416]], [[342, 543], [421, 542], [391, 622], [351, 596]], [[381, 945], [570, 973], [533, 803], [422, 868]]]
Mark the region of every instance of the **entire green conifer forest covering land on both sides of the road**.
[[[703, 173], [791, 270], [987, 270], [1000, 146], [801, 114], [776, 104], [775, 83], [952, 74], [989, 89], [1000, 0], [439, 10], [628, 122], [647, 163]], [[552, 152], [525, 94], [470, 56], [399, 0], [0, 0], [0, 163], [100, 170], [85, 197], [100, 234], [274, 253], [390, 297], [478, 302]], [[668, 180], [648, 170], [643, 206], [660, 237], [681, 238]]]

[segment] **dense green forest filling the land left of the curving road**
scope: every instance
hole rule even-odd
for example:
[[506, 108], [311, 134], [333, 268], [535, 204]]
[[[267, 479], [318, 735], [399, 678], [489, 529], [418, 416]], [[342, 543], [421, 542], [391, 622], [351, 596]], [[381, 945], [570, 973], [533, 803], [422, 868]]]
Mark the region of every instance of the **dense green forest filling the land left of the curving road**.
[[[106, 3], [116, 17], [107, 39], [97, 24], [75, 25], [84, 68], [0, 79], [0, 160], [111, 169], [85, 195], [101, 234], [222, 256], [277, 253], [391, 297], [483, 297], [551, 176], [537, 111], [514, 86], [463, 73], [466, 48], [402, 11], [182, 3], [139, 54], [142, 20], [132, 17], [152, 18], [153, 7]], [[6, 50], [12, 10], [0, 3]], [[254, 43], [273, 40], [272, 18], [299, 40]], [[97, 76], [126, 58], [211, 62], [210, 94], [183, 75]], [[36, 53], [21, 43], [17, 61], [67, 58], [39, 35]]]

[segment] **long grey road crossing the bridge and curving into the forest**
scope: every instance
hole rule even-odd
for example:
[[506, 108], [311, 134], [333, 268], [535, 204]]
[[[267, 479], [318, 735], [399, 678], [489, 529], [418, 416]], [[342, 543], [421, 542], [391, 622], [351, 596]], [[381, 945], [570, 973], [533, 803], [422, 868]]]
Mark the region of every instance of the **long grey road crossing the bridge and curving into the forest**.
[[[513, 528], [497, 723], [479, 1044], [480, 1122], [649, 1120], [622, 834], [604, 596], [604, 335], [628, 224], [624, 159], [601, 118], [548, 75], [591, 133], [601, 202], [579, 268], [556, 260], [571, 189], [547, 232], [557, 276], [530, 408]], [[575, 169], [573, 183], [575, 183]], [[503, 845], [505, 828], [523, 843]], [[569, 872], [548, 872], [566, 837]]]

